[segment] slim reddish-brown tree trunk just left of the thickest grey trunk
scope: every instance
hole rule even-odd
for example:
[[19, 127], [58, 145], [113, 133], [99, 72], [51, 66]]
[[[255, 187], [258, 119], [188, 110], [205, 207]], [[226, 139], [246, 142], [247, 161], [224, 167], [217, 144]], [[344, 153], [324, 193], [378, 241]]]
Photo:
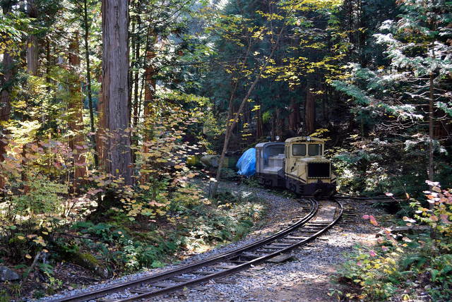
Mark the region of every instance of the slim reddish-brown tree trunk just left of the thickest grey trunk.
[[80, 56], [78, 47], [78, 32], [74, 34], [71, 44], [69, 44], [69, 65], [71, 66], [71, 82], [69, 85], [69, 130], [73, 133], [69, 136], [69, 147], [73, 153], [73, 186], [77, 188], [82, 183], [82, 178], [86, 175], [86, 159], [83, 152], [85, 149], [85, 139], [83, 138], [83, 95], [81, 91], [81, 79], [78, 76], [80, 68]]

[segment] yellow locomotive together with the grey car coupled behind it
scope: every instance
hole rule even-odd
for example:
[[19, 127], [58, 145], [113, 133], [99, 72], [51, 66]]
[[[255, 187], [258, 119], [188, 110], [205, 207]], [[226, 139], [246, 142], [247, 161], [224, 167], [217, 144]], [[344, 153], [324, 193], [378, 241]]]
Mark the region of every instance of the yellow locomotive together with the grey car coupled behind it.
[[266, 186], [301, 195], [333, 195], [336, 176], [323, 156], [325, 140], [310, 136], [256, 145], [256, 176]]

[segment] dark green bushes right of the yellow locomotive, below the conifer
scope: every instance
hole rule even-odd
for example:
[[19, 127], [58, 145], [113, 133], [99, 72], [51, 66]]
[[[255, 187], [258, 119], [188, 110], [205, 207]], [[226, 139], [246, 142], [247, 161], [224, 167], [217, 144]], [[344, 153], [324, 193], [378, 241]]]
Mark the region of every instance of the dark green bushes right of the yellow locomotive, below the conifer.
[[[426, 188], [427, 146], [407, 147], [391, 139], [362, 138], [350, 135], [343, 147], [328, 150], [338, 176], [338, 191], [354, 195], [375, 196], [392, 192], [422, 198]], [[327, 152], [327, 151], [326, 151]], [[452, 183], [450, 160], [435, 153], [435, 177], [444, 184]], [[391, 160], [388, 160], [391, 159]]]

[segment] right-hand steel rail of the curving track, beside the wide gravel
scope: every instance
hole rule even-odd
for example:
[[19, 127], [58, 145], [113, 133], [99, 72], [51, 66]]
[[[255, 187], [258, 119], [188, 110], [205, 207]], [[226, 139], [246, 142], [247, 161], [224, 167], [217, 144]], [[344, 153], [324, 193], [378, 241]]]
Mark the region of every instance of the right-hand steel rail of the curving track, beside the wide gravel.
[[[276, 251], [274, 253], [270, 253], [268, 255], [263, 255], [262, 257], [256, 258], [254, 260], [249, 260], [246, 263], [243, 263], [241, 265], [237, 265], [236, 267], [224, 270], [222, 272], [216, 272], [216, 273], [213, 273], [213, 274], [209, 274], [209, 275], [207, 275], [205, 277], [199, 277], [199, 278], [196, 278], [194, 280], [191, 280], [191, 281], [188, 281], [188, 282], [179, 283], [179, 284], [175, 284], [174, 286], [166, 287], [166, 288], [163, 288], [163, 289], [160, 289], [160, 290], [149, 291], [147, 293], [138, 294], [136, 296], [131, 296], [131, 297], [128, 297], [128, 298], [117, 299], [117, 300], [115, 300], [115, 302], [136, 301], [136, 300], [143, 299], [143, 298], [150, 298], [150, 297], [153, 297], [153, 296], [160, 296], [162, 294], [169, 294], [169, 293], [171, 293], [173, 291], [177, 291], [178, 289], [184, 289], [184, 287], [188, 287], [188, 286], [192, 286], [194, 284], [207, 282], [210, 279], [216, 279], [218, 277], [224, 277], [224, 276], [226, 276], [228, 274], [233, 274], [235, 272], [246, 270], [249, 267], [253, 267], [253, 266], [259, 265], [259, 264], [265, 262], [266, 260], [268, 260], [270, 258], [274, 258], [277, 255], [280, 255], [282, 253], [287, 253], [290, 250], [298, 248], [299, 246], [302, 246], [304, 243], [308, 243], [310, 241], [313, 241], [315, 238], [321, 236], [321, 234], [323, 234], [326, 231], [328, 231], [328, 229], [331, 229], [331, 227], [333, 227], [333, 225], [336, 224], [339, 221], [340, 217], [343, 214], [343, 205], [341, 203], [339, 203], [338, 200], [334, 200], [334, 201], [335, 201], [335, 203], [338, 203], [339, 213], [338, 213], [337, 216], [335, 215], [336, 217], [333, 219], [333, 221], [330, 224], [328, 224], [326, 227], [323, 227], [323, 229], [321, 229], [318, 232], [316, 232], [315, 234], [312, 234], [311, 236], [309, 236], [308, 238], [306, 238], [306, 239], [304, 239], [302, 241], [299, 241], [297, 243], [292, 244], [292, 246], [287, 246], [287, 248], [281, 248], [280, 250], [278, 250], [278, 251]], [[316, 200], [314, 200], [314, 202], [316, 202]], [[336, 212], [337, 212], [337, 209], [336, 209]], [[152, 284], [151, 284], [151, 286], [152, 286]]]

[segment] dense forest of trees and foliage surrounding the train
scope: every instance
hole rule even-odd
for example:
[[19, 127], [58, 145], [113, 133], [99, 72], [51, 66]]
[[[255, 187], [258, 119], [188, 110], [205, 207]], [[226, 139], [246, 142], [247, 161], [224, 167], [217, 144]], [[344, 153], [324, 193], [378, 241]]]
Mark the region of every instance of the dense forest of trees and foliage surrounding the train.
[[[191, 180], [213, 175], [187, 158], [233, 157], [266, 140], [327, 138], [342, 193], [451, 186], [450, 1], [0, 5], [5, 259], [30, 265], [49, 246], [67, 258], [80, 243], [57, 229], [108, 236], [115, 224], [97, 224], [108, 219], [163, 236], [159, 219], [180, 222], [210, 203]], [[123, 249], [120, 261], [130, 267], [179, 248], [145, 254], [130, 240], [137, 255]]]

